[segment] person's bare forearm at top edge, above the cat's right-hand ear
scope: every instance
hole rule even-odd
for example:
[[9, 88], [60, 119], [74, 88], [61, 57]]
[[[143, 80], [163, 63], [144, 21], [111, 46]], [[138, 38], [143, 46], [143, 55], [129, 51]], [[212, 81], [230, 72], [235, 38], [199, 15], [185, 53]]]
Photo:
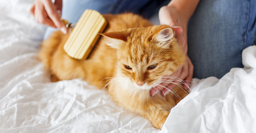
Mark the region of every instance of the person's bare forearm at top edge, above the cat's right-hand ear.
[[177, 9], [188, 21], [196, 10], [200, 0], [172, 0], [167, 6]]

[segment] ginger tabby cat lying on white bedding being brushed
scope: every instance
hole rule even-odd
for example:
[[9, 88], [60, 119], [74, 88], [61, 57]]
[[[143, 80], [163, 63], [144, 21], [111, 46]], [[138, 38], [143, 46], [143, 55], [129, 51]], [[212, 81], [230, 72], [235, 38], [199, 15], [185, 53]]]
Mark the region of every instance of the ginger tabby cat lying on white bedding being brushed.
[[175, 88], [165, 97], [149, 91], [165, 75], [184, 63], [174, 30], [166, 25], [151, 26], [138, 15], [103, 15], [109, 25], [87, 60], [75, 60], [63, 49], [69, 35], [54, 32], [42, 43], [39, 57], [49, 68], [52, 80], [82, 78], [99, 89], [108, 88], [115, 102], [148, 119], [162, 129], [170, 110], [187, 92]]

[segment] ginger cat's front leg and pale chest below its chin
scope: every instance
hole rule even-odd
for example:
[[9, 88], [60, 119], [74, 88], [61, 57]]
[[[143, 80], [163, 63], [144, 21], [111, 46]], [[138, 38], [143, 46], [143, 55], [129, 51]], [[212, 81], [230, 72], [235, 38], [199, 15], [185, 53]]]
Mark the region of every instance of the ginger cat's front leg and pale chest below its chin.
[[148, 119], [154, 127], [162, 129], [169, 110], [173, 107], [173, 99], [169, 96], [151, 97], [148, 90], [130, 91], [121, 84], [110, 84], [109, 94], [115, 102], [125, 109]]

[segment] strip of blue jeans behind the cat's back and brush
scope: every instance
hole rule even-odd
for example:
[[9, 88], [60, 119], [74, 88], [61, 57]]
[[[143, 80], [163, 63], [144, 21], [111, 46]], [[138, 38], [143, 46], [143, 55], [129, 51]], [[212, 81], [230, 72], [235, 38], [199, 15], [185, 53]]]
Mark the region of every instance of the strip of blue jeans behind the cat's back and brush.
[[164, 1], [165, 0], [65, 0], [63, 1], [62, 18], [75, 23], [86, 9], [96, 10], [101, 14], [133, 12], [148, 18], [153, 14], [154, 9]]

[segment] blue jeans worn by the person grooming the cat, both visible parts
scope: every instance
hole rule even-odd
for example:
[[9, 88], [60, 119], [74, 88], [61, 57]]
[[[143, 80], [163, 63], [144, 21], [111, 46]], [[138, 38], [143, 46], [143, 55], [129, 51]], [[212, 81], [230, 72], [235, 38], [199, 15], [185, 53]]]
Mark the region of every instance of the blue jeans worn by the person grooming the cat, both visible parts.
[[[161, 5], [154, 0], [64, 0], [62, 18], [77, 22], [84, 10], [102, 14], [133, 12], [148, 18]], [[255, 44], [256, 0], [201, 0], [188, 24], [188, 55], [194, 77], [221, 78], [242, 68], [242, 51]], [[47, 29], [46, 37], [52, 31]]]

